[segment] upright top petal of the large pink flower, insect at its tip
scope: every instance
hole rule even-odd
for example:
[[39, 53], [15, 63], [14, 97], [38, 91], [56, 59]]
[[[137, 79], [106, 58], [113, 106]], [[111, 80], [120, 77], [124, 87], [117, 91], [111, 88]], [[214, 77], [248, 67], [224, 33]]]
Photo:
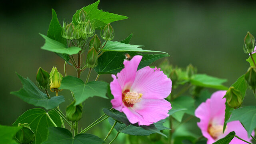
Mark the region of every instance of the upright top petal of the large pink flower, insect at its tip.
[[117, 80], [120, 84], [122, 90], [130, 89], [132, 83], [134, 82], [138, 65], [142, 56], [134, 56], [130, 61], [124, 60], [124, 69], [117, 73]]

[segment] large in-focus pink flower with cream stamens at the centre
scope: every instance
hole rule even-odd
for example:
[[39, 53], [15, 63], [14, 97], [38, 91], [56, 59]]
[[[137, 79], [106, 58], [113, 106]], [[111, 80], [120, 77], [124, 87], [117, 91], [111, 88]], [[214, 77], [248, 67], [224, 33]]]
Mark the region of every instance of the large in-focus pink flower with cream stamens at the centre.
[[150, 125], [169, 116], [172, 108], [164, 100], [171, 90], [172, 81], [160, 68], [146, 66], [137, 71], [142, 56], [124, 60], [124, 69], [110, 83], [113, 108], [124, 112], [128, 120], [138, 125]]

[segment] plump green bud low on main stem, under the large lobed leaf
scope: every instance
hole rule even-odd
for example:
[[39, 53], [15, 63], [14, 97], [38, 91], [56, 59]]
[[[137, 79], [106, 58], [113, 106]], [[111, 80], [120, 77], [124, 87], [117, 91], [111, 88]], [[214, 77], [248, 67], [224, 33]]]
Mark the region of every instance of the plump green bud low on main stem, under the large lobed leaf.
[[72, 122], [78, 122], [82, 118], [82, 104], [78, 104], [75, 106], [74, 104], [76, 101], [72, 102], [67, 108], [66, 108], [66, 116], [68, 120]]

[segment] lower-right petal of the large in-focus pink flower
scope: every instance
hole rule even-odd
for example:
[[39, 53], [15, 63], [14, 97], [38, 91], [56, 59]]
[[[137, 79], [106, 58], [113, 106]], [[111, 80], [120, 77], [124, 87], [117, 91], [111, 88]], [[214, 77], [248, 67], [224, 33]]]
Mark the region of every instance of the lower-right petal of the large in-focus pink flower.
[[[131, 108], [138, 114], [140, 114], [144, 120], [150, 122], [158, 122], [169, 116], [168, 112], [171, 109], [171, 104], [167, 100], [149, 100], [142, 99], [140, 102], [134, 104]], [[139, 122], [139, 125], [144, 125]]]

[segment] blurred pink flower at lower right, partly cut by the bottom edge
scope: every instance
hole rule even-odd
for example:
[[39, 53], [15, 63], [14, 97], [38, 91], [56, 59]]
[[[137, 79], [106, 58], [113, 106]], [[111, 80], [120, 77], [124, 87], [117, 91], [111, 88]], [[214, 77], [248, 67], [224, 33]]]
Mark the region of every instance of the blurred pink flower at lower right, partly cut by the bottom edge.
[[[240, 138], [250, 141], [247, 132], [239, 121], [228, 122], [224, 134], [222, 133], [224, 118], [225, 118], [225, 102], [226, 98], [223, 98], [226, 91], [214, 92], [210, 99], [206, 102], [202, 102], [195, 111], [196, 117], [200, 118], [200, 122], [197, 123], [201, 129], [202, 134], [207, 138], [207, 144], [212, 144], [224, 138], [228, 133], [235, 131], [236, 135]], [[254, 132], [253, 132], [254, 133]], [[234, 137], [230, 144], [247, 144], [242, 140]]]

